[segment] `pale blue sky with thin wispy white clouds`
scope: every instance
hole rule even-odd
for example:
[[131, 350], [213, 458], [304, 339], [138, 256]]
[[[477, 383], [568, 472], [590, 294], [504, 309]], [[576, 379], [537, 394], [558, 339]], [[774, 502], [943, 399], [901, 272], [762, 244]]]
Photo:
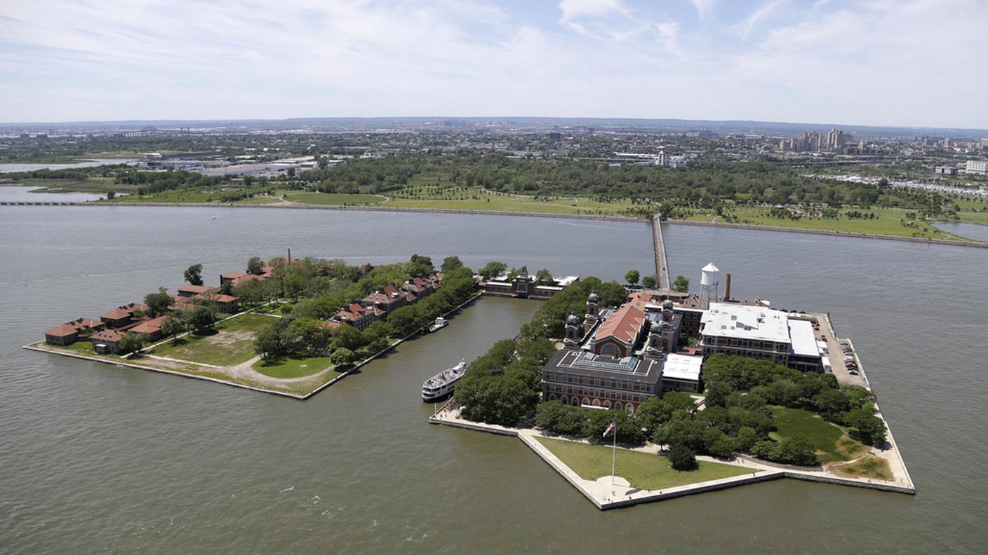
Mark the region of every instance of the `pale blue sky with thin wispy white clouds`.
[[5, 0], [0, 121], [988, 128], [986, 0]]

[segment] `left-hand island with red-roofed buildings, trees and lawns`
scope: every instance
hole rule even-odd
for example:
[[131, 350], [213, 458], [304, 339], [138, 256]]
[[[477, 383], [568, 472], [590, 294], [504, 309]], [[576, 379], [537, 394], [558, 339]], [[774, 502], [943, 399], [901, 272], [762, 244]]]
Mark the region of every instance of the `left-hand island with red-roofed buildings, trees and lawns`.
[[78, 317], [25, 349], [307, 399], [437, 318], [474, 301], [473, 272], [451, 256], [389, 265], [251, 258], [206, 285], [203, 266], [99, 318]]

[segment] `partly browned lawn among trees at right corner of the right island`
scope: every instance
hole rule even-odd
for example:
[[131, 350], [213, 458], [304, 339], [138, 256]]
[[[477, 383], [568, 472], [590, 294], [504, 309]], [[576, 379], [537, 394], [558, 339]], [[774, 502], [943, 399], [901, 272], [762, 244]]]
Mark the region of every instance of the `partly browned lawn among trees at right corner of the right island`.
[[774, 439], [796, 434], [806, 436], [816, 447], [816, 457], [820, 464], [851, 460], [868, 450], [861, 441], [851, 438], [840, 427], [809, 411], [773, 406], [772, 415], [777, 431], [771, 436]]

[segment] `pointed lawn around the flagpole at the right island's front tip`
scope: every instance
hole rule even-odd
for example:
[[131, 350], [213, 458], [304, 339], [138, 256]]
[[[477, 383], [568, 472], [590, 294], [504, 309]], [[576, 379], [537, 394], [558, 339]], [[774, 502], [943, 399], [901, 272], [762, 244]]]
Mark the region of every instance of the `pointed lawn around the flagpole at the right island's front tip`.
[[[611, 475], [611, 447], [548, 437], [536, 436], [535, 439], [584, 480], [597, 480]], [[673, 470], [665, 456], [617, 449], [617, 475], [627, 480], [632, 487], [642, 490], [697, 484], [749, 472], [750, 470], [740, 466], [705, 461], [700, 461], [700, 468], [697, 470], [684, 472]]]

